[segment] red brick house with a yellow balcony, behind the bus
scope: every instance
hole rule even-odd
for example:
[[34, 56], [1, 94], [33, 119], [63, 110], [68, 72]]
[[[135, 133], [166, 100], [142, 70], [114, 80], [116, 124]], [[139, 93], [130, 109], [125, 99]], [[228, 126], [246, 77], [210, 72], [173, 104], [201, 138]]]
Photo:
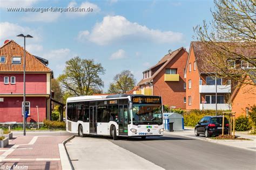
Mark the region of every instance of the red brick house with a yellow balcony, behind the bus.
[[184, 70], [187, 55], [183, 47], [166, 54], [156, 65], [143, 72], [143, 79], [133, 94], [161, 96], [164, 105], [185, 109]]

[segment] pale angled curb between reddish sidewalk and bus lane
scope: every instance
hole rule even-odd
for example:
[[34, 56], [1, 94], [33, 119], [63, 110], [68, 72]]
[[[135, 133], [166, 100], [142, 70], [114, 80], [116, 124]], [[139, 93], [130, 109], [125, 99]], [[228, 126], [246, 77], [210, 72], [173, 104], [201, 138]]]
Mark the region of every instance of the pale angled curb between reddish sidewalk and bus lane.
[[72, 162], [70, 160], [70, 157], [69, 157], [69, 153], [65, 147], [65, 144], [73, 138], [75, 138], [75, 136], [71, 136], [68, 139], [64, 140], [61, 144], [58, 144], [59, 156], [60, 156], [60, 162], [62, 164], [62, 169], [72, 169], [72, 170], [74, 169]]

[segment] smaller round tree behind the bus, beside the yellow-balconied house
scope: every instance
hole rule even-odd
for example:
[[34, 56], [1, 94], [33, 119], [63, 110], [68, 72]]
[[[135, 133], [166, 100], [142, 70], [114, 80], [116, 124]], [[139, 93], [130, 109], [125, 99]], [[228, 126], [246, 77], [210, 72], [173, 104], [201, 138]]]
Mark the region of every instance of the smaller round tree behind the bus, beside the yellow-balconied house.
[[123, 72], [114, 76], [112, 83], [110, 83], [109, 93], [124, 94], [131, 90], [135, 86], [136, 80], [133, 74], [129, 70], [123, 70]]

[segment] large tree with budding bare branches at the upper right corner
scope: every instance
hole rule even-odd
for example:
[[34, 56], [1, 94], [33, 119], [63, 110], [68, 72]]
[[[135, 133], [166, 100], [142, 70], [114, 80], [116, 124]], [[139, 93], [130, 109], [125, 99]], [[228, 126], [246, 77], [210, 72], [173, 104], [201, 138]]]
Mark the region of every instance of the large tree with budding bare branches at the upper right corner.
[[[255, 87], [250, 79], [256, 78], [256, 1], [214, 0], [214, 4], [210, 25], [204, 21], [203, 26], [194, 27], [197, 40], [214, 52], [207, 62], [218, 77]], [[247, 68], [235, 69], [238, 63]]]

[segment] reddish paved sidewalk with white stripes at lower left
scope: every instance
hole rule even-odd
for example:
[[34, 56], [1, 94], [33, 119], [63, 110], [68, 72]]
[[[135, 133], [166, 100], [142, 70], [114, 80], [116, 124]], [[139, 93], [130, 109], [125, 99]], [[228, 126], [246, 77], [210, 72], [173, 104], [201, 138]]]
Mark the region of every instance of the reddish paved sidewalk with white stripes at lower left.
[[58, 144], [70, 136], [27, 134], [14, 133], [8, 147], [0, 150], [1, 169], [62, 169]]

